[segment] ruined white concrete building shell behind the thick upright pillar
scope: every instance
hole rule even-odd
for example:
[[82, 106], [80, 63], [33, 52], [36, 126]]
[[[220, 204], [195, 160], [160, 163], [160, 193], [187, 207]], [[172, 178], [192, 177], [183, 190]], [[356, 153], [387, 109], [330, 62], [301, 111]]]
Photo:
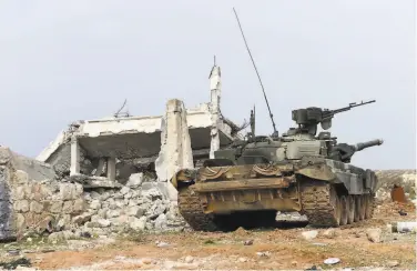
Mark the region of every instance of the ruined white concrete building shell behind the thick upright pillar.
[[[208, 158], [216, 149], [230, 144], [233, 139], [242, 138], [238, 133], [232, 134], [237, 126], [223, 120], [220, 112], [220, 68], [213, 67], [210, 77], [211, 101], [183, 111], [192, 155], [197, 151], [200, 159], [204, 157], [202, 151], [207, 153]], [[61, 131], [37, 159], [53, 165], [60, 175], [68, 174], [68, 171], [71, 174], [94, 175], [98, 168], [102, 168], [99, 164], [101, 158], [116, 158], [119, 161], [149, 159], [154, 162], [161, 152], [161, 137], [165, 137], [162, 134], [164, 126], [162, 116], [78, 121], [72, 123], [68, 131]], [[167, 131], [166, 137], [172, 133], [174, 132]], [[110, 172], [113, 179], [114, 172]]]

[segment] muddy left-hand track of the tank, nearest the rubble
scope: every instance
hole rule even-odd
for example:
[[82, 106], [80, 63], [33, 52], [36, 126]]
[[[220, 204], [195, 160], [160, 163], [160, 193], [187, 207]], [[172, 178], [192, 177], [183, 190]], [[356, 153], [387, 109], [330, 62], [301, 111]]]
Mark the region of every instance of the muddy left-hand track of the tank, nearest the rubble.
[[179, 209], [181, 215], [196, 231], [220, 230], [214, 222], [213, 214], [203, 212], [199, 195], [191, 188], [183, 188], [179, 191]]

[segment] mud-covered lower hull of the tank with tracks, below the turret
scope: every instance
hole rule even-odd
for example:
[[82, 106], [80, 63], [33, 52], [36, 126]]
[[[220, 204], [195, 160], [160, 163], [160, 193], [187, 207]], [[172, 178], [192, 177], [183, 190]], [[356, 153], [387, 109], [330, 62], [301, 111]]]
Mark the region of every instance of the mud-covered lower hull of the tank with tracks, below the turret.
[[208, 231], [271, 224], [277, 211], [306, 214], [314, 227], [355, 223], [372, 218], [377, 185], [373, 171], [317, 158], [182, 170], [171, 181], [184, 219]]

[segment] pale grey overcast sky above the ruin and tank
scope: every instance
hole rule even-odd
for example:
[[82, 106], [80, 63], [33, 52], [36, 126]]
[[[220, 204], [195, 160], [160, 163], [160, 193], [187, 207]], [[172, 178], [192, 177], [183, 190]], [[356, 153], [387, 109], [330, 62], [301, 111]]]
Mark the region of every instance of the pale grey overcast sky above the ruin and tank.
[[208, 73], [222, 69], [222, 111], [237, 123], [264, 98], [232, 8], [238, 12], [279, 133], [291, 110], [339, 108], [339, 142], [383, 138], [353, 163], [415, 168], [413, 0], [345, 1], [0, 1], [0, 144], [35, 157], [60, 130], [113, 114], [162, 114], [179, 98], [208, 101]]

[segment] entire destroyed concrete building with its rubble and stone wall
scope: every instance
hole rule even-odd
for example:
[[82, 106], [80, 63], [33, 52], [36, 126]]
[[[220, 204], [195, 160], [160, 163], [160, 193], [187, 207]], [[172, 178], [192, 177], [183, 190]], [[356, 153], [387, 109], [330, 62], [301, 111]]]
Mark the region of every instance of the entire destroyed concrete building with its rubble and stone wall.
[[185, 109], [170, 100], [156, 117], [72, 123], [35, 160], [0, 149], [0, 239], [74, 228], [98, 234], [184, 224], [167, 181], [242, 138], [220, 111], [221, 70], [210, 73], [211, 100]]

